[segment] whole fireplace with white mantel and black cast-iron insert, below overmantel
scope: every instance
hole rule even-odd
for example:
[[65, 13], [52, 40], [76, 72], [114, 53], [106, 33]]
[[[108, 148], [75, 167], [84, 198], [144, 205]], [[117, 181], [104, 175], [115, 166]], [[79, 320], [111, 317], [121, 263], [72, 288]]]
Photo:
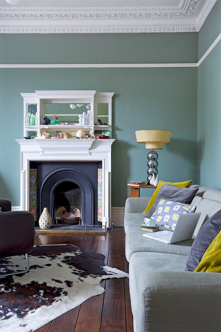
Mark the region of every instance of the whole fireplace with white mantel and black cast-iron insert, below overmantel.
[[[65, 175], [64, 177], [53, 183], [51, 189], [55, 190], [59, 183], [70, 181], [75, 185], [78, 185], [82, 190], [82, 206], [81, 207], [81, 221], [88, 221], [91, 223], [102, 223], [104, 226], [107, 223], [107, 227], [111, 227], [111, 145], [114, 139], [18, 139], [20, 144], [20, 175], [21, 175], [21, 186], [20, 186], [20, 206], [21, 210], [30, 211], [30, 169], [37, 170], [37, 213], [36, 213], [36, 225], [40, 216], [40, 211], [43, 207], [47, 207], [48, 211], [51, 211], [51, 204], [53, 203], [53, 196], [46, 190], [43, 181], [49, 175], [50, 181], [53, 179], [53, 172], [58, 173], [56, 169], [60, 168], [71, 168], [72, 171], [75, 169], [75, 175], [79, 174], [80, 171], [88, 181], [84, 179], [83, 185], [86, 183], [89, 189], [84, 192], [82, 190], [82, 184], [76, 181], [74, 173], [69, 173], [70, 176]], [[40, 166], [41, 165], [41, 166]], [[87, 165], [87, 166], [86, 166]], [[93, 165], [96, 165], [93, 167]], [[81, 169], [79, 168], [81, 167]], [[102, 179], [99, 182], [99, 193], [102, 193], [102, 197], [99, 194], [99, 218], [100, 222], [97, 222], [97, 195], [98, 195], [98, 178], [102, 171]], [[59, 172], [61, 174], [61, 172]], [[47, 179], [49, 181], [49, 178]], [[82, 178], [81, 178], [82, 179]], [[82, 181], [83, 181], [82, 179]], [[60, 181], [60, 182], [59, 182]], [[92, 183], [92, 184], [91, 184]], [[48, 182], [49, 184], [49, 182]], [[91, 184], [91, 188], [90, 185]], [[36, 183], [35, 185], [36, 186]], [[42, 188], [40, 189], [40, 186]], [[69, 185], [68, 185], [69, 186]], [[83, 186], [84, 187], [84, 186]], [[75, 189], [76, 186], [70, 188], [67, 191]], [[88, 187], [86, 187], [88, 188]], [[94, 190], [93, 190], [94, 188]], [[59, 190], [59, 187], [57, 188]], [[39, 190], [42, 190], [42, 195], [39, 196]], [[63, 190], [63, 189], [62, 189]], [[47, 205], [43, 206], [44, 193], [46, 192]], [[94, 201], [93, 201], [94, 192]], [[94, 202], [93, 209], [95, 213], [91, 213], [91, 216], [87, 216], [89, 207], [86, 206], [87, 193], [90, 194], [91, 202]], [[85, 202], [84, 202], [85, 199]], [[92, 204], [92, 203], [91, 203]], [[92, 205], [90, 206], [90, 208]], [[102, 208], [101, 208], [102, 207]], [[85, 208], [85, 212], [83, 210]], [[51, 212], [50, 212], [51, 213]], [[53, 211], [54, 213], [54, 211]], [[51, 214], [53, 214], [51, 213]], [[85, 218], [83, 220], [85, 214]], [[94, 215], [94, 221], [93, 221]], [[53, 216], [53, 215], [52, 215]], [[91, 219], [90, 219], [91, 218]], [[56, 220], [53, 220], [56, 223]], [[90, 223], [89, 223], [90, 224]]]

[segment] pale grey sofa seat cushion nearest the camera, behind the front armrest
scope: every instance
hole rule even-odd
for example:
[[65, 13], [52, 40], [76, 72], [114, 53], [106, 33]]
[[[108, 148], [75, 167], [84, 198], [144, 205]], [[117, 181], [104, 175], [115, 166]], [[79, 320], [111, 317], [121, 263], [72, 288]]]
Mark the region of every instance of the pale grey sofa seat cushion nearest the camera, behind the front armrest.
[[[130, 257], [129, 284], [133, 316], [138, 314], [138, 283], [142, 273], [147, 271], [184, 271], [186, 256], [137, 252]], [[141, 280], [142, 282], [142, 280]]]

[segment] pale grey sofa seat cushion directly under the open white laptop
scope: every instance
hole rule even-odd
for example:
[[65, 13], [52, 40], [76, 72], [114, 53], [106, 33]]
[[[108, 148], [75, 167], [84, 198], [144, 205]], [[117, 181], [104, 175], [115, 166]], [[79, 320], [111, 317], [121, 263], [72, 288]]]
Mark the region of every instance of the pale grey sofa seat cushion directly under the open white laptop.
[[129, 228], [126, 232], [126, 259], [135, 252], [159, 252], [188, 256], [194, 239], [168, 244], [143, 236], [144, 232], [138, 227]]

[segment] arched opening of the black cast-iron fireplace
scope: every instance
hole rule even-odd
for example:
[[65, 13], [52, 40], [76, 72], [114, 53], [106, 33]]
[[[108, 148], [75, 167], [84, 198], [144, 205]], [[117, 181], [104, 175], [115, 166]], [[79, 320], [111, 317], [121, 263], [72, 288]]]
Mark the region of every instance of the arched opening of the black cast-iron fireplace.
[[53, 190], [52, 207], [56, 224], [82, 224], [82, 190], [73, 181], [62, 181]]

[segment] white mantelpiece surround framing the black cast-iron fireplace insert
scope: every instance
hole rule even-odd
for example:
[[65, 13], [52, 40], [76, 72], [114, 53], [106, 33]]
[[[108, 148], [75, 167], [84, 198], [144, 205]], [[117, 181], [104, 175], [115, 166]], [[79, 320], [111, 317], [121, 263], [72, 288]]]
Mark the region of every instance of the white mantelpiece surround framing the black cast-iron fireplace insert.
[[[105, 222], [107, 222], [107, 226], [111, 227], [111, 145], [114, 141], [115, 139], [17, 139], [17, 142], [20, 144], [21, 208], [23, 210], [29, 210], [29, 170], [32, 162], [38, 164], [49, 162], [56, 163], [57, 168], [60, 169], [61, 175], [64, 177], [63, 180], [71, 179], [74, 183], [80, 183], [80, 187], [83, 181], [90, 187], [91, 176], [88, 171], [87, 176], [85, 170], [80, 171], [81, 174], [75, 172], [75, 175], [78, 177], [78, 179], [75, 177], [75, 182], [70, 176], [70, 172], [73, 172], [73, 169], [78, 169], [78, 167], [74, 167], [74, 162], [97, 162], [97, 165], [100, 162], [100, 165], [102, 165], [102, 225], [105, 225]], [[70, 166], [67, 166], [67, 163], [70, 163]], [[61, 170], [61, 168], [63, 168], [63, 170]], [[59, 170], [53, 173], [53, 170], [51, 170], [51, 172], [49, 172], [50, 174], [47, 174], [48, 179], [53, 176], [53, 174], [58, 174], [58, 171]], [[86, 175], [86, 177], [83, 179], [84, 175]], [[45, 184], [46, 181], [47, 179], [44, 177], [42, 181], [43, 184]], [[59, 181], [62, 182], [62, 178], [59, 178], [57, 182]], [[39, 188], [42, 188], [40, 184]], [[91, 188], [93, 188], [93, 181]], [[95, 188], [90, 190], [94, 190], [95, 197], [94, 200], [93, 195], [91, 195], [90, 199], [88, 198], [90, 203], [85, 204], [85, 208], [90, 209], [94, 204], [95, 208], [91, 214], [91, 220], [87, 220], [89, 216], [86, 211], [85, 214], [83, 213], [84, 217], [82, 220], [87, 224], [88, 222], [89, 224], [97, 224], [97, 192]], [[40, 201], [42, 197], [39, 196]], [[39, 205], [37, 215], [39, 215], [44, 206], [42, 202], [37, 203]], [[48, 211], [50, 211], [50, 207]]]

